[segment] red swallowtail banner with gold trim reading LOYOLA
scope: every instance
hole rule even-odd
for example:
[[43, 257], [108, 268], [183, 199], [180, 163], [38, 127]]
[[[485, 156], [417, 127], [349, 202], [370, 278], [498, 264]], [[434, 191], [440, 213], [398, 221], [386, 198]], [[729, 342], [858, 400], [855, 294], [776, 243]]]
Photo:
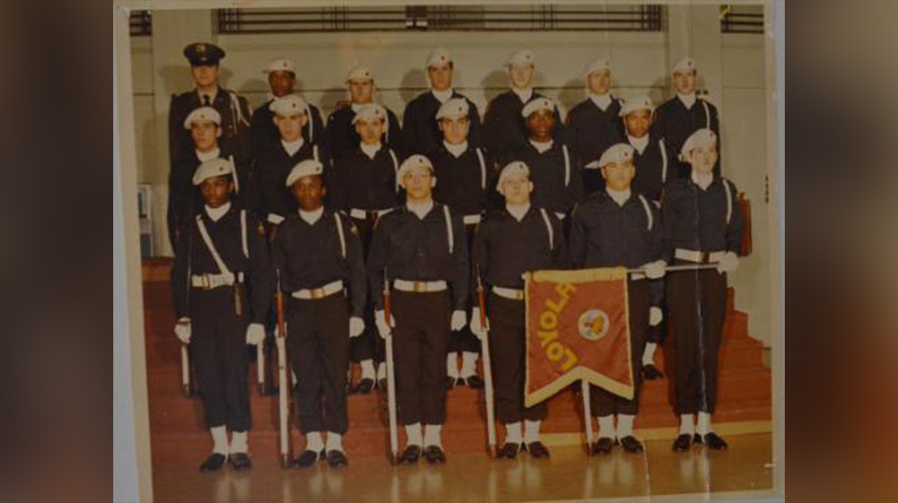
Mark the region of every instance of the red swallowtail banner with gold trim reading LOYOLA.
[[633, 398], [627, 269], [539, 270], [524, 292], [527, 407], [581, 379]]

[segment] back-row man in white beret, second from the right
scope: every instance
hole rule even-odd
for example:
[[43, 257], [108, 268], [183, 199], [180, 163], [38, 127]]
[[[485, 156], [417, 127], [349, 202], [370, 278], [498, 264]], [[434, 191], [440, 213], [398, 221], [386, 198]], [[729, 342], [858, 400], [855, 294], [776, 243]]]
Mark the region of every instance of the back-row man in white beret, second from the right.
[[[597, 59], [583, 72], [586, 99], [568, 113], [568, 139], [571, 148], [583, 163], [598, 161], [603, 152], [623, 141], [621, 100], [612, 96], [612, 70], [607, 59]], [[601, 190], [603, 181], [597, 177]]]

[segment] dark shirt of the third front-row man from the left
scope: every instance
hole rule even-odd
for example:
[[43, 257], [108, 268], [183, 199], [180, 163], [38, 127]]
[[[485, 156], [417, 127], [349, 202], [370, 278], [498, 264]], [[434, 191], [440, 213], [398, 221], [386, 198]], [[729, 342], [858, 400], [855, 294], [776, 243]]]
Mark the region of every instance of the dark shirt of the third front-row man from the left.
[[374, 237], [368, 252], [368, 284], [377, 309], [383, 309], [383, 273], [393, 279], [409, 281], [445, 280], [452, 288], [454, 309], [467, 304], [468, 264], [467, 233], [462, 217], [450, 212], [452, 251], [444, 205], [434, 207], [423, 219], [408, 207], [396, 207], [381, 216], [374, 225]]

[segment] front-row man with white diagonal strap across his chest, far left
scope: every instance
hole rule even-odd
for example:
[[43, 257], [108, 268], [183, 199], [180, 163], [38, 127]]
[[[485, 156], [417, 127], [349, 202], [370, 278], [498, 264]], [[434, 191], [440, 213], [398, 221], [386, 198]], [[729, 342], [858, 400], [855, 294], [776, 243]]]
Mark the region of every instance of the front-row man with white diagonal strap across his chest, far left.
[[[265, 315], [274, 293], [265, 238], [259, 222], [232, 205], [233, 164], [213, 159], [193, 176], [205, 207], [180, 234], [172, 269], [178, 323], [174, 332], [190, 344], [196, 365], [212, 454], [200, 472], [229, 460], [247, 470], [251, 427], [246, 344], [265, 338]], [[231, 431], [228, 445], [227, 431]]]

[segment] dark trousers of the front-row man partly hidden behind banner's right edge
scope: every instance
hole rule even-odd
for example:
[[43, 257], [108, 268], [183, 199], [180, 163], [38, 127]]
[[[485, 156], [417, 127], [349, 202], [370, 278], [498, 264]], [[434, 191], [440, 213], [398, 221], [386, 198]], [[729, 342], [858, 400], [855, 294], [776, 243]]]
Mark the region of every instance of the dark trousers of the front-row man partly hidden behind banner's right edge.
[[639, 392], [642, 387], [642, 352], [646, 349], [648, 309], [652, 305], [651, 282], [647, 279], [629, 280], [629, 353], [633, 367], [633, 399], [627, 400], [597, 386], [590, 386], [589, 406], [594, 417], [612, 414], [635, 416], [639, 411]]

